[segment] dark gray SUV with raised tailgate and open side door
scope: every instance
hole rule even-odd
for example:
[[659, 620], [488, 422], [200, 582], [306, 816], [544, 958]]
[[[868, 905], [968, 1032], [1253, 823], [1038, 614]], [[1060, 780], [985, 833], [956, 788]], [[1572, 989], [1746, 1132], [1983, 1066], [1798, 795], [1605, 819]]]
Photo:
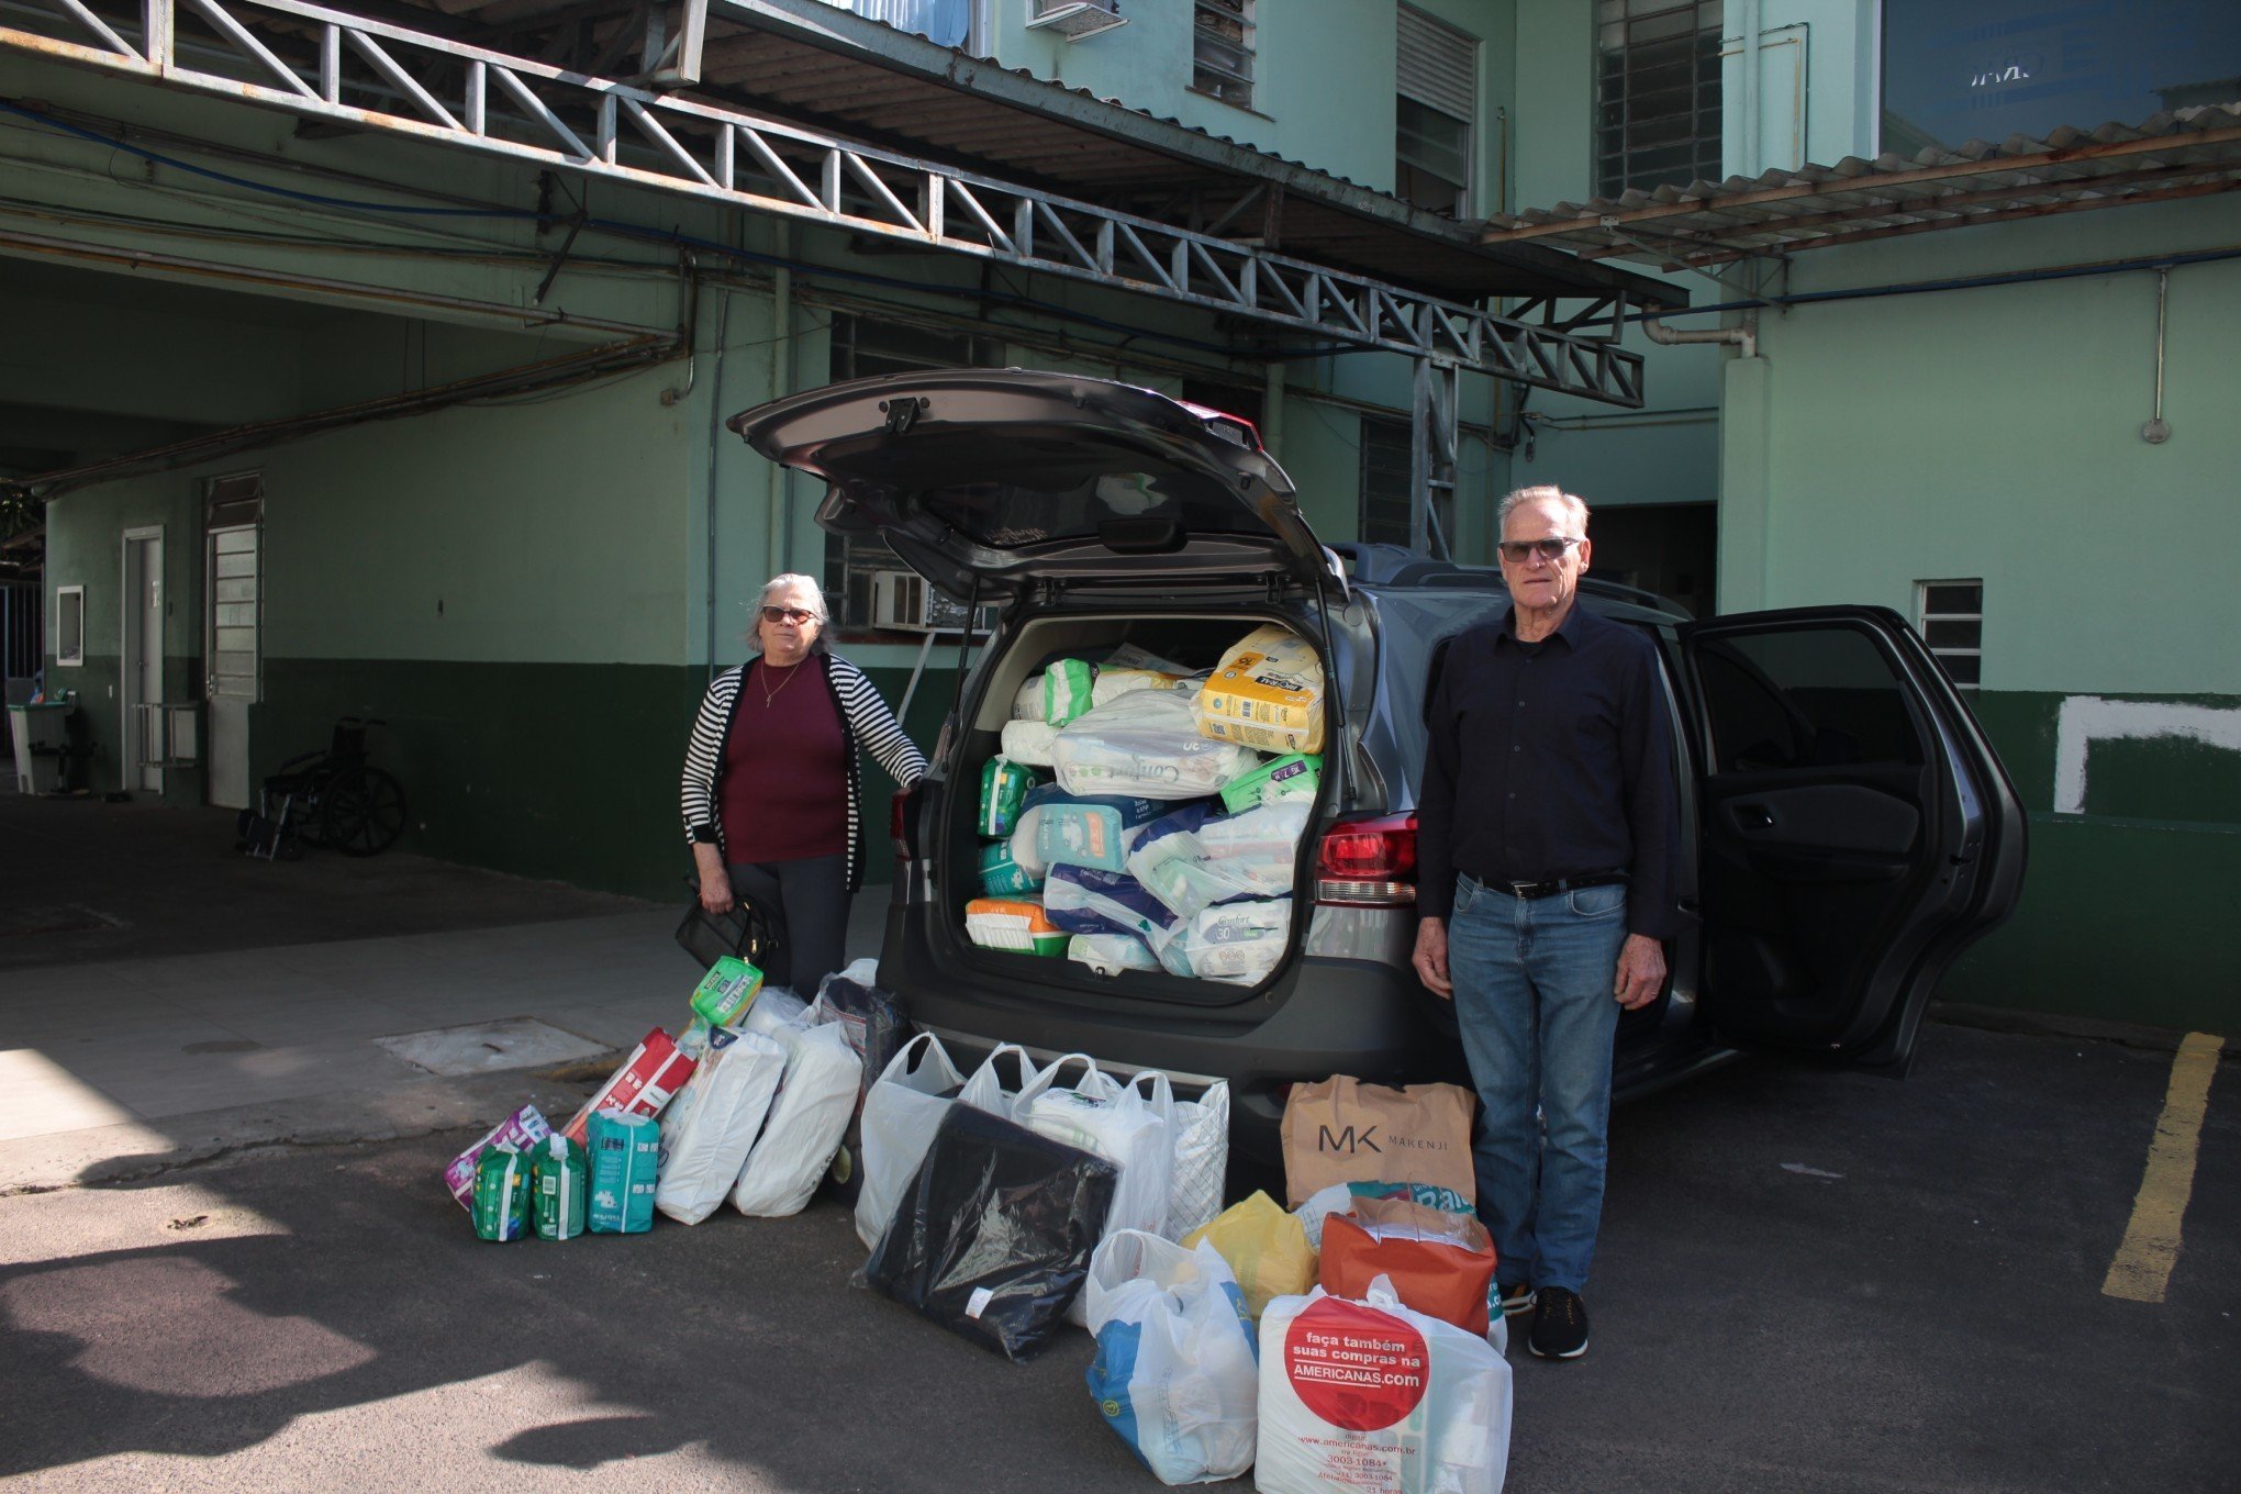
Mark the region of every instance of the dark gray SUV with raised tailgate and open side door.
[[[1011, 1042], [1161, 1068], [1183, 1093], [1228, 1080], [1233, 1149], [1264, 1167], [1295, 1082], [1466, 1080], [1450, 1008], [1410, 968], [1412, 811], [1430, 685], [1445, 643], [1508, 605], [1497, 571], [1327, 549], [1248, 423], [1098, 379], [863, 379], [731, 428], [827, 479], [825, 529], [878, 533], [997, 607], [928, 777], [894, 804], [881, 983], [914, 1024], [959, 1062]], [[1903, 1073], [1938, 974], [2024, 876], [2024, 813], [1968, 703], [1880, 607], [1690, 620], [1593, 576], [1580, 598], [1658, 643], [1696, 912], [1667, 990], [1620, 1024], [1620, 1093], [1739, 1048]], [[1262, 623], [1318, 647], [1331, 744], [1282, 963], [1233, 986], [970, 943], [982, 766], [1020, 685], [1123, 643], [1210, 667]]]

